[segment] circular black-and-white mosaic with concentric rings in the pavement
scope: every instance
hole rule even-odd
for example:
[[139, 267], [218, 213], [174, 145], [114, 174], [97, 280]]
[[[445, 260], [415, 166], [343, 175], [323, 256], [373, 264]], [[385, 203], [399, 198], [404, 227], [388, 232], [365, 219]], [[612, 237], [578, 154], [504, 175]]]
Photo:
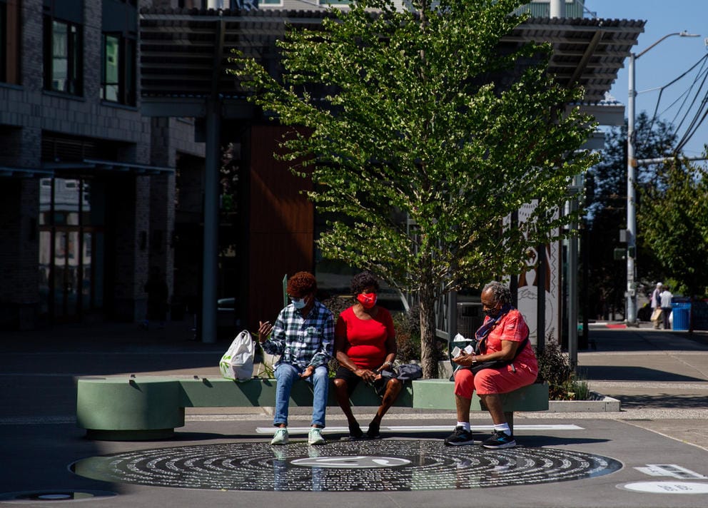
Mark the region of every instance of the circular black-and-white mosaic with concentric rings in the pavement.
[[622, 464], [568, 449], [446, 447], [442, 440], [235, 442], [136, 450], [73, 464], [106, 482], [227, 490], [473, 489], [597, 477]]

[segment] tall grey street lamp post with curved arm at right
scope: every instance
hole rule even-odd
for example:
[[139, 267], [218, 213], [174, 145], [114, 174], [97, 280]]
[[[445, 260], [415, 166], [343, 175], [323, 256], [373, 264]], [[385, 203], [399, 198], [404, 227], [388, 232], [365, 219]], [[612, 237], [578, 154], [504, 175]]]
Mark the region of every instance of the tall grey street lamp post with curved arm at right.
[[637, 322], [637, 283], [634, 278], [637, 266], [637, 210], [634, 181], [637, 168], [637, 159], [634, 158], [634, 99], [637, 91], [634, 90], [634, 61], [664, 39], [671, 36], [699, 37], [698, 34], [689, 34], [686, 31], [674, 32], [663, 36], [639, 54], [629, 54], [629, 93], [627, 94], [627, 325]]

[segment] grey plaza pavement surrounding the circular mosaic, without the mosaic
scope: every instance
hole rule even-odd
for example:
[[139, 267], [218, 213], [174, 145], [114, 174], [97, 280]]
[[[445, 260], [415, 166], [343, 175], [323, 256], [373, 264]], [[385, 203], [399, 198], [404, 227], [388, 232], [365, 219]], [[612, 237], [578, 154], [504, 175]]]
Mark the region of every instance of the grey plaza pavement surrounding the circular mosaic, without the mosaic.
[[[419, 492], [231, 492], [218, 489], [176, 489], [148, 485], [105, 482], [69, 471], [69, 464], [87, 457], [159, 449], [173, 450], [233, 445], [263, 447], [269, 435], [268, 409], [243, 411], [228, 408], [193, 408], [186, 427], [177, 429], [174, 440], [155, 442], [96, 442], [86, 440], [76, 427], [75, 379], [90, 375], [180, 374], [218, 376], [218, 360], [228, 340], [205, 344], [192, 337], [188, 322], [169, 322], [165, 330], [138, 330], [131, 324], [64, 325], [51, 330], [4, 333], [0, 354], [0, 449], [4, 460], [0, 474], [0, 504], [10, 492], [113, 492], [100, 504], [113, 507], [233, 507], [285, 504], [289, 507], [378, 507], [431, 506], [468, 507], [469, 487]], [[604, 413], [519, 413], [516, 415], [515, 452], [539, 454], [591, 453], [612, 457], [622, 469], [597, 478], [573, 482], [532, 482], [538, 472], [522, 475], [516, 486], [475, 489], [475, 504], [487, 507], [594, 507], [646, 508], [704, 507], [708, 494], [691, 496], [629, 492], [627, 485], [654, 481], [660, 485], [673, 478], [652, 477], [641, 469], [651, 464], [674, 464], [707, 477], [689, 487], [708, 492], [708, 341], [706, 335], [664, 332], [644, 327], [617, 329], [596, 325], [590, 330], [594, 348], [578, 354], [579, 366], [596, 392], [622, 401], [621, 412]], [[292, 426], [306, 426], [307, 408], [293, 416]], [[371, 408], [360, 408], [362, 419]], [[356, 411], [359, 414], [359, 411]], [[472, 425], [488, 427], [489, 417], [475, 414]], [[366, 420], [363, 420], [366, 421]], [[418, 435], [388, 431], [387, 443], [440, 444], [454, 425], [453, 412], [397, 410], [384, 425], [419, 426]], [[328, 410], [328, 426], [345, 426], [337, 408]], [[485, 432], [485, 431], [482, 431]], [[337, 442], [337, 435], [328, 435]], [[415, 439], [418, 438], [418, 439]], [[295, 439], [295, 453], [299, 449]], [[340, 446], [340, 445], [338, 445]], [[186, 448], [185, 448], [186, 447]], [[455, 454], [484, 459], [475, 447], [441, 447], [434, 460], [451, 460]], [[201, 449], [201, 448], [200, 448]], [[241, 453], [250, 453], [239, 448]], [[259, 448], [262, 449], [262, 448]], [[270, 449], [270, 448], [268, 448]], [[246, 451], [244, 451], [246, 450]], [[323, 448], [326, 452], [326, 447]], [[277, 450], [276, 450], [277, 451]], [[361, 453], [361, 449], [353, 452]], [[395, 450], [390, 453], [395, 456]], [[511, 453], [505, 455], [516, 457]], [[445, 456], [448, 456], [445, 458]], [[241, 457], [234, 456], [235, 460]], [[259, 459], [261, 460], [261, 459]], [[420, 460], [428, 460], [421, 456]], [[433, 460], [431, 458], [430, 460]], [[266, 461], [273, 462], [271, 457]], [[559, 462], [559, 464], [562, 463]], [[431, 462], [433, 464], [433, 462]], [[422, 466], [421, 466], [422, 467]], [[673, 466], [672, 466], [673, 467]], [[671, 469], [659, 467], [659, 473]], [[551, 470], [555, 470], [555, 467]], [[314, 469], [313, 469], [314, 471]], [[404, 469], [395, 471], [405, 472]], [[395, 472], [392, 470], [393, 472]], [[545, 471], [545, 470], [544, 470]], [[294, 474], [294, 473], [293, 473]], [[372, 472], [373, 474], [373, 472]], [[414, 472], [414, 478], [423, 472]], [[503, 473], [501, 477], [503, 477]], [[548, 471], [542, 474], [550, 474]], [[666, 473], [672, 474], [672, 473]], [[675, 474], [675, 473], [674, 473]], [[447, 482], [445, 475], [439, 482]], [[485, 481], [491, 481], [485, 475]], [[683, 481], [683, 480], [681, 480]], [[426, 487], [427, 488], [427, 487]], [[5, 496], [4, 496], [5, 494]], [[440, 497], [444, 496], [444, 497]], [[442, 499], [442, 502], [441, 502]], [[602, 502], [600, 502], [602, 499]], [[71, 502], [71, 501], [69, 501]], [[59, 502], [23, 502], [24, 506], [54, 506]], [[61, 504], [66, 504], [62, 501]]]

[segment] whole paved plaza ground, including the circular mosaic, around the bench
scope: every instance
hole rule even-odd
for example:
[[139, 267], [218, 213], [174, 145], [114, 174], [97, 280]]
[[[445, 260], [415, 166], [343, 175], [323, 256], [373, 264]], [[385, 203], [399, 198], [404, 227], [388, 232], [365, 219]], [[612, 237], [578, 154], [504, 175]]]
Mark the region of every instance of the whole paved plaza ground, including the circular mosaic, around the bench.
[[[187, 408], [169, 440], [93, 441], [76, 427], [76, 378], [218, 377], [228, 341], [164, 330], [61, 325], [4, 332], [0, 355], [0, 505], [51, 507], [706, 507], [708, 335], [596, 323], [580, 369], [622, 410], [515, 414], [515, 449], [445, 447], [453, 412], [396, 408], [381, 440], [348, 441], [328, 410], [328, 444], [271, 447], [272, 409]], [[581, 410], [582, 409], [582, 410]], [[592, 409], [592, 408], [591, 408]], [[373, 408], [356, 408], [363, 425]], [[475, 413], [475, 438], [490, 419]]]

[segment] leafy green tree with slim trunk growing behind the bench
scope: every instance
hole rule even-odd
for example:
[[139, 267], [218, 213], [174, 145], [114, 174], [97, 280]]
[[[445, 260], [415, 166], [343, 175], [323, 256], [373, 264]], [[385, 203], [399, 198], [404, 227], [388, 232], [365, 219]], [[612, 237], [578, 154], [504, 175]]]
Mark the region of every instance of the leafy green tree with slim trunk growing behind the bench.
[[[290, 29], [279, 78], [240, 59], [253, 101], [307, 128], [282, 156], [332, 213], [323, 255], [418, 292], [424, 342], [442, 293], [519, 273], [530, 247], [576, 220], [557, 210], [595, 163], [578, 151], [591, 118], [567, 108], [582, 90], [548, 75], [550, 48], [502, 41], [521, 3], [358, 1], [320, 30]], [[527, 220], [502, 228], [532, 201]]]

